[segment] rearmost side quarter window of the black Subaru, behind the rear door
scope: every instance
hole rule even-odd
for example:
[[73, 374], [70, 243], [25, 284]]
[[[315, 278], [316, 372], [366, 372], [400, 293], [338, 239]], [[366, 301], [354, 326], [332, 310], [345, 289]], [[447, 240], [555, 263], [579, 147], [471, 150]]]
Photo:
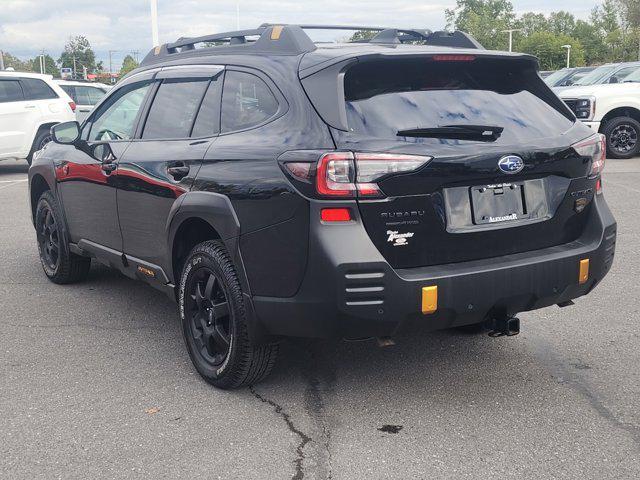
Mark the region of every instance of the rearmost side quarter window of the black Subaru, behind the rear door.
[[278, 101], [266, 83], [245, 72], [229, 71], [222, 94], [222, 131], [255, 127], [278, 112]]

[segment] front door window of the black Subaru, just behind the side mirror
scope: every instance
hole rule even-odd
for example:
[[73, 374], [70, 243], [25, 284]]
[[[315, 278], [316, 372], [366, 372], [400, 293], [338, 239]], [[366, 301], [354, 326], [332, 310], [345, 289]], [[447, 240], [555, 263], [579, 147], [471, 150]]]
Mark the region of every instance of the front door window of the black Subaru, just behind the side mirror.
[[[103, 104], [104, 108], [93, 121], [90, 140], [129, 140], [133, 137], [136, 118], [149, 91], [151, 83], [138, 83], [123, 87], [113, 100]], [[109, 99], [111, 100], [111, 99]]]

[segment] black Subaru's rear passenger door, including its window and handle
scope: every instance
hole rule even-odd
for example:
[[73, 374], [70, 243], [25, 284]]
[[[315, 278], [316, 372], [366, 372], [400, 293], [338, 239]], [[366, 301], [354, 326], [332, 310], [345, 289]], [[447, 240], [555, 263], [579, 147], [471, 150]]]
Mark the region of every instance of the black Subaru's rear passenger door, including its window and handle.
[[167, 220], [220, 129], [223, 68], [168, 68], [156, 77], [146, 121], [118, 165], [124, 252], [153, 266], [168, 258]]

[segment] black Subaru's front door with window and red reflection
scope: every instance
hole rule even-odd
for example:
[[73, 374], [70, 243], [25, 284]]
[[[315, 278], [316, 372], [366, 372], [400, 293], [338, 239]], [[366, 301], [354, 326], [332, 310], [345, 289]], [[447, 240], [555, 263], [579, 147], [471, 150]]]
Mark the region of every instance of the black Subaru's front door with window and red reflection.
[[[84, 126], [83, 140], [56, 162], [58, 188], [74, 243], [85, 241], [90, 247], [122, 251], [117, 166], [131, 144], [151, 86], [150, 80], [143, 80], [118, 89]], [[92, 155], [92, 147], [98, 143], [108, 144], [111, 155], [104, 159]]]

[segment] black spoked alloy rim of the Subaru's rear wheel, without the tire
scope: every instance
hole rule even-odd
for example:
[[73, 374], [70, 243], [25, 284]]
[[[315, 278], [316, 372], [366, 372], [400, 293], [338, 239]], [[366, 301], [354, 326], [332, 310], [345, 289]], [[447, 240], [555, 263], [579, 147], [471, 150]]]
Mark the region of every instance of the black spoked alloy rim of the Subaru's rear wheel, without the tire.
[[191, 279], [185, 313], [190, 317], [195, 351], [211, 367], [219, 367], [229, 355], [232, 322], [222, 282], [203, 266]]

